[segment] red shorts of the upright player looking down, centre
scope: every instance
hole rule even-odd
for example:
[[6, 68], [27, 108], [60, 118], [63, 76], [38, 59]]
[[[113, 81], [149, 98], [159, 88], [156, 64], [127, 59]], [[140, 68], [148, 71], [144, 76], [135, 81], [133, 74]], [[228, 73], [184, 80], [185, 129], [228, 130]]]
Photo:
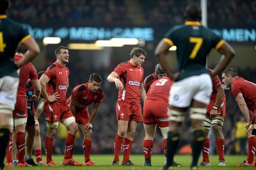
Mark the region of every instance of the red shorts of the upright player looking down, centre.
[[116, 102], [116, 120], [143, 121], [140, 103]]

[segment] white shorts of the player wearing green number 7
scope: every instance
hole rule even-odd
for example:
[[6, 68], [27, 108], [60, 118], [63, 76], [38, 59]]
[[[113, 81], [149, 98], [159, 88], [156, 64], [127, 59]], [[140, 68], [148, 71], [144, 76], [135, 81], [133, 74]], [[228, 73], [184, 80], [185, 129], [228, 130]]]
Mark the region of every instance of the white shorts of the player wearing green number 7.
[[207, 73], [195, 75], [172, 84], [169, 104], [173, 107], [186, 108], [196, 100], [209, 104], [212, 93], [212, 79]]

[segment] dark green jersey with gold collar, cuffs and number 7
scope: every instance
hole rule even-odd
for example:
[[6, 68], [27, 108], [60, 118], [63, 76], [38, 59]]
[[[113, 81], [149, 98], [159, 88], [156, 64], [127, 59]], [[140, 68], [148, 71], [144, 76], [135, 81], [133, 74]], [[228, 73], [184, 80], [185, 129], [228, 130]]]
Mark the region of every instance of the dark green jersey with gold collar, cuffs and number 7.
[[212, 48], [217, 50], [224, 43], [211, 29], [201, 26], [200, 22], [191, 21], [170, 29], [163, 40], [177, 47], [178, 70], [184, 70], [178, 81], [209, 73], [205, 69], [207, 54]]

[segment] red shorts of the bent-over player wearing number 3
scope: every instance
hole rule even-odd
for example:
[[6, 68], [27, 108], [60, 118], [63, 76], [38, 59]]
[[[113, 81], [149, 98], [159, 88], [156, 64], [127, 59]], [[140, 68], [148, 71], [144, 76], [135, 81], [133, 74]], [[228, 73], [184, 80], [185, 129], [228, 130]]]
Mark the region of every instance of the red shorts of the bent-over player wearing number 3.
[[146, 100], [143, 107], [143, 123], [146, 125], [169, 126], [169, 105], [161, 100]]

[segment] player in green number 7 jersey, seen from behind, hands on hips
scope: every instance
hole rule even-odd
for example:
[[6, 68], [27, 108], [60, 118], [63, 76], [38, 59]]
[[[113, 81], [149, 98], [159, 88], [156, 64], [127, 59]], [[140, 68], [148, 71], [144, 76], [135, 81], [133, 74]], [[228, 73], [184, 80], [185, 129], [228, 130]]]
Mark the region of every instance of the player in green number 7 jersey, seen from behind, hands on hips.
[[[170, 128], [167, 139], [167, 163], [164, 169], [173, 166], [173, 157], [177, 150], [180, 132], [179, 128], [189, 110], [193, 137], [191, 148], [193, 160], [191, 169], [197, 169], [198, 158], [205, 139], [204, 118], [212, 93], [212, 80], [221, 72], [235, 52], [225, 40], [211, 29], [201, 25], [202, 12], [196, 5], [189, 5], [184, 13], [185, 24], [175, 26], [159, 42], [155, 55], [168, 77], [175, 81], [170, 91]], [[177, 47], [178, 72], [172, 73], [165, 58], [173, 45]], [[207, 54], [214, 48], [222, 58], [214, 71], [206, 70]]]

